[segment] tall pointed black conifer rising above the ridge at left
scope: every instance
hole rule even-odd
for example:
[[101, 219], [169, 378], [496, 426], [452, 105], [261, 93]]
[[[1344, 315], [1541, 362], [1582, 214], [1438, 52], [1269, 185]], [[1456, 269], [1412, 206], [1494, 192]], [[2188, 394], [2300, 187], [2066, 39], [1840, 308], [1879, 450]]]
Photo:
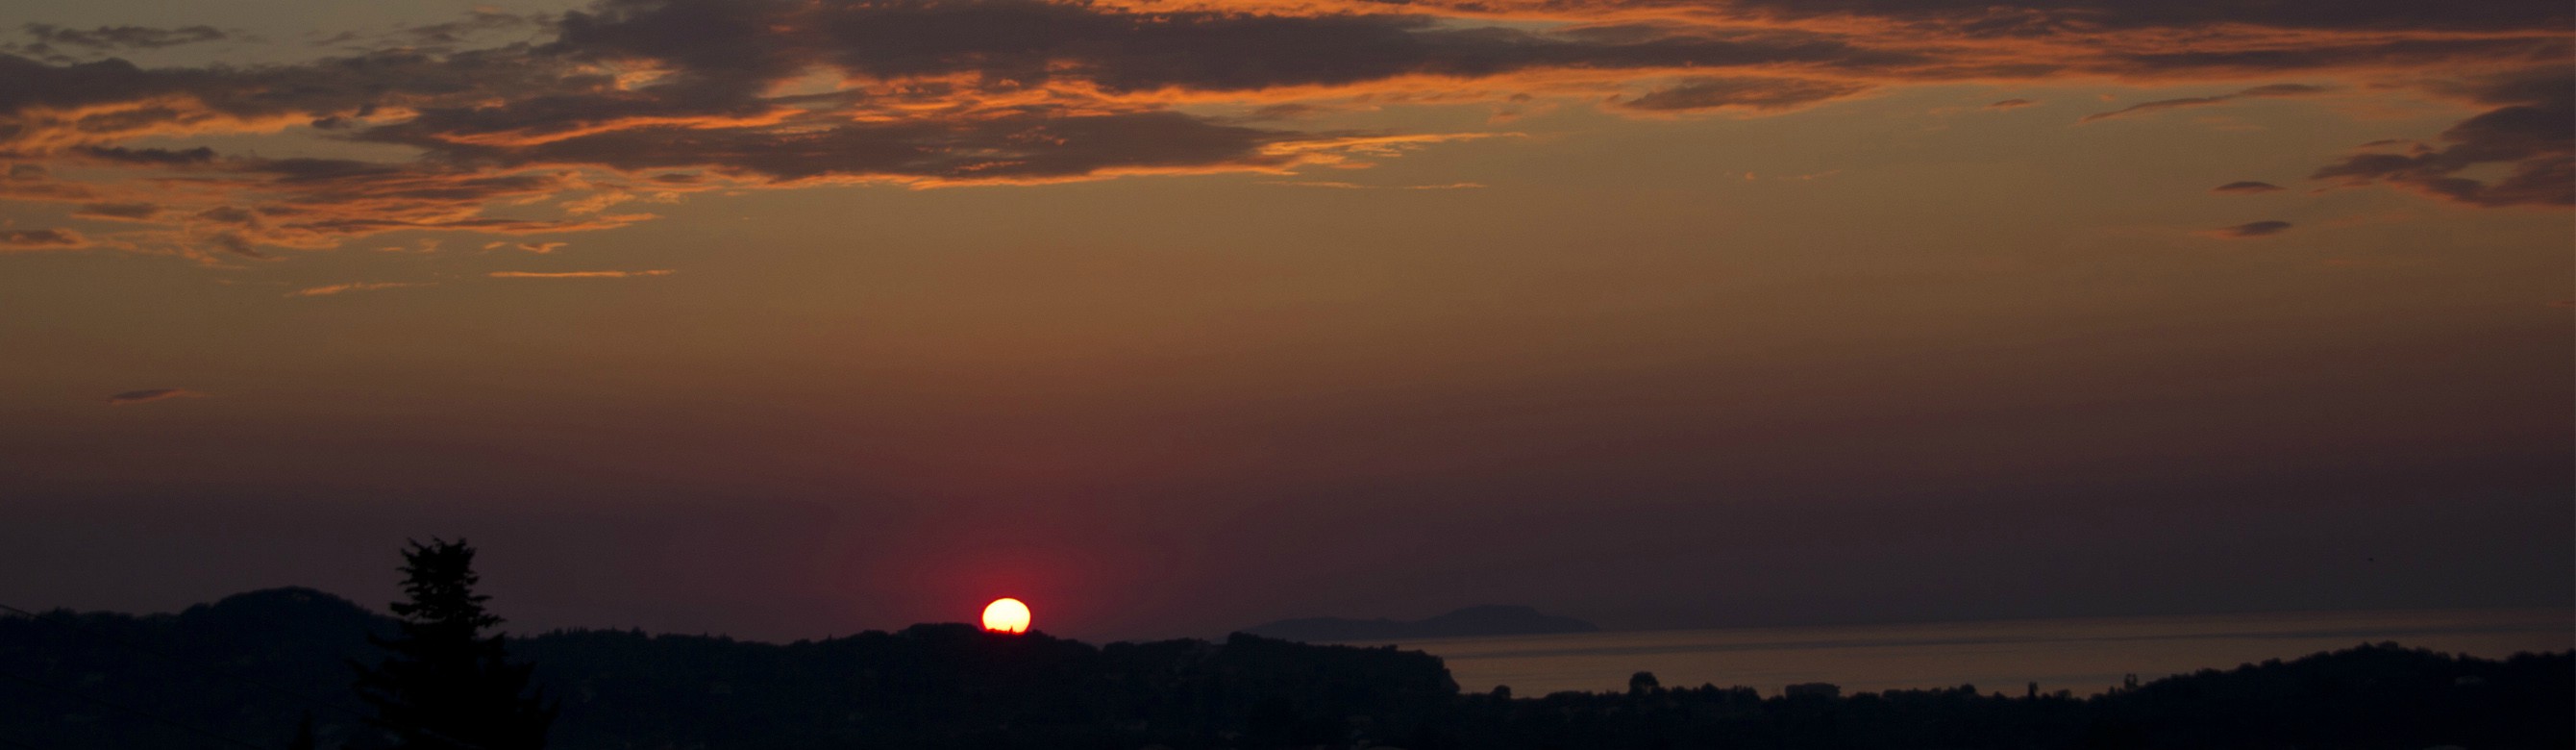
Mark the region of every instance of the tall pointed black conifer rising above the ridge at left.
[[368, 637], [389, 655], [358, 668], [358, 696], [402, 750], [538, 750], [554, 706], [528, 691], [531, 665], [510, 662], [502, 624], [474, 593], [474, 546], [464, 539], [412, 541], [402, 552], [402, 631]]

